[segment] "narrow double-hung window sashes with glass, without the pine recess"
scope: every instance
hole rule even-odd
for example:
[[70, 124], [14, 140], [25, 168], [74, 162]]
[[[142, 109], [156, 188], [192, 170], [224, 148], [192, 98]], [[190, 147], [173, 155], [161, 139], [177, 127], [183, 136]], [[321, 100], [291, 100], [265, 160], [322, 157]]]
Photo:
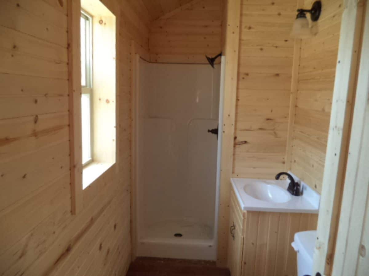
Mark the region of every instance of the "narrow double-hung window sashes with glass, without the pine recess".
[[92, 17], [81, 11], [82, 164], [92, 162]]

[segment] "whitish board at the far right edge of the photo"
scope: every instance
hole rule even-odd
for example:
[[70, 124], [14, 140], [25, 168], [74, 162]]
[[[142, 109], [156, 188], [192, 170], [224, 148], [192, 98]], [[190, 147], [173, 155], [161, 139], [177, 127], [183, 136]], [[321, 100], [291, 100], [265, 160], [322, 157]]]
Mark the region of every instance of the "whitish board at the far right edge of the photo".
[[[368, 273], [369, 5], [366, 3], [358, 85], [332, 275]], [[359, 238], [360, 237], [360, 238]]]

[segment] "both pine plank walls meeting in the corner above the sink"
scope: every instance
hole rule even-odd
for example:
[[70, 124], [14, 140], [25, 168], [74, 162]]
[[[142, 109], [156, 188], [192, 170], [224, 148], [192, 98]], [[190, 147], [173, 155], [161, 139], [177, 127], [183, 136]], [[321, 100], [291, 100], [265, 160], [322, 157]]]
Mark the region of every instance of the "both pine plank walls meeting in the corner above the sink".
[[234, 177], [272, 179], [286, 169], [321, 192], [343, 2], [324, 0], [317, 35], [296, 43], [296, 8], [313, 2], [242, 1]]

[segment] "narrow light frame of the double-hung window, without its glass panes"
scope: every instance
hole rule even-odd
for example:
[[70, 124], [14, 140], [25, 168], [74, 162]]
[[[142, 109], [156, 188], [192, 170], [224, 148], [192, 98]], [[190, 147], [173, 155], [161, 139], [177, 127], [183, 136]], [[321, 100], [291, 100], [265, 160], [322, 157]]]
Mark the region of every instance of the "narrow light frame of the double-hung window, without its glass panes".
[[[93, 162], [93, 57], [92, 57], [92, 47], [93, 47], [93, 36], [92, 36], [92, 15], [87, 13], [81, 8], [81, 18], [85, 20], [85, 41], [86, 41], [86, 85], [81, 84], [82, 95], [89, 95], [90, 98], [90, 158], [85, 163], [82, 163], [82, 167], [86, 167], [88, 164]], [[82, 47], [82, 45], [81, 45]], [[82, 71], [81, 71], [82, 73]], [[82, 115], [82, 109], [81, 109]], [[83, 145], [82, 145], [83, 147]]]

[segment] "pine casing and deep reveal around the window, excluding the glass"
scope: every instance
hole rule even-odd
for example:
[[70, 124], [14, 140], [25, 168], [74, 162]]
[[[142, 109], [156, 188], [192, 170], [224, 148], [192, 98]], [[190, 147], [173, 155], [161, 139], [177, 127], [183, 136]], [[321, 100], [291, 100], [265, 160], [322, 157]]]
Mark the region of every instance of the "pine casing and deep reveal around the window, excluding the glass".
[[[70, 190], [71, 190], [71, 213], [79, 215], [87, 206], [93, 204], [93, 198], [99, 192], [115, 189], [119, 176], [118, 154], [120, 137], [118, 130], [118, 76], [119, 47], [118, 38], [120, 19], [109, 10], [101, 0], [67, 1], [68, 3], [68, 101], [69, 101], [69, 146], [70, 146]], [[93, 162], [82, 167], [82, 128], [81, 128], [81, 9], [92, 15], [93, 21]], [[102, 14], [103, 13], [103, 14]], [[100, 20], [106, 21], [102, 26]], [[104, 39], [100, 39], [101, 38]], [[102, 50], [99, 50], [99, 47]], [[101, 56], [99, 56], [101, 53]], [[103, 57], [103, 58], [96, 58]], [[113, 59], [111, 59], [113, 57]], [[103, 96], [108, 101], [100, 105], [99, 97]], [[129, 98], [129, 97], [128, 97]], [[110, 104], [108, 109], [104, 109]], [[105, 111], [108, 111], [107, 113]], [[113, 112], [114, 111], [114, 112]], [[98, 120], [99, 116], [106, 120]], [[104, 131], [100, 130], [100, 127]], [[98, 132], [97, 132], [98, 131]], [[113, 135], [113, 141], [110, 140]], [[97, 143], [97, 141], [100, 141]], [[104, 142], [104, 141], [107, 141]], [[101, 151], [100, 151], [101, 145]], [[96, 169], [101, 167], [99, 173]], [[92, 173], [91, 173], [92, 171]], [[92, 175], [94, 174], [94, 175]], [[108, 181], [107, 175], [112, 181]], [[87, 179], [89, 178], [89, 179]], [[83, 181], [91, 181], [83, 189]], [[118, 182], [117, 182], [118, 181]], [[113, 185], [110, 187], [110, 184]], [[97, 192], [97, 194], [96, 194]], [[90, 208], [90, 207], [89, 207]]]

